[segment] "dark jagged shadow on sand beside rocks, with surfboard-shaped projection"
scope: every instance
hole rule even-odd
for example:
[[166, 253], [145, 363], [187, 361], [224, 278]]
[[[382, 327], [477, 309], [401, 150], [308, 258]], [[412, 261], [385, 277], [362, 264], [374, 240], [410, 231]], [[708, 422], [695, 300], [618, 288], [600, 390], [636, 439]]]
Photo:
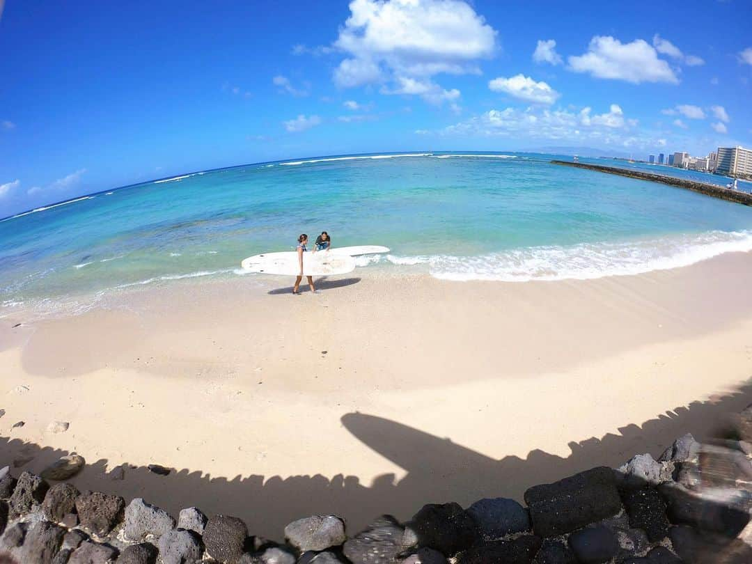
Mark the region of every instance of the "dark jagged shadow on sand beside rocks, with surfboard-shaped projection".
[[[597, 465], [617, 467], [638, 453], [657, 456], [686, 432], [704, 438], [716, 431], [728, 414], [738, 413], [750, 403], [752, 384], [747, 384], [718, 399], [667, 411], [641, 426], [623, 427], [618, 435], [572, 442], [572, 453], [566, 457], [531, 450], [525, 458], [502, 459], [383, 417], [344, 414], [341, 422], [355, 438], [407, 472], [401, 480], [393, 474], [378, 476], [370, 485], [351, 475], [253, 475], [253, 453], [249, 453], [247, 466], [238, 468], [235, 478], [214, 478], [199, 469], [173, 469], [169, 475], [160, 476], [145, 466], [129, 466], [125, 480], [114, 481], [108, 475], [112, 470], [108, 460], [99, 459], [87, 464], [71, 482], [80, 490], [117, 493], [126, 502], [143, 497], [174, 516], [180, 508], [191, 505], [208, 514], [235, 515], [247, 523], [251, 534], [275, 540], [282, 540], [287, 523], [313, 514], [339, 514], [347, 520], [348, 532], [354, 534], [380, 514], [408, 520], [426, 503], [453, 501], [466, 507], [484, 497], [521, 501], [525, 490], [536, 484], [557, 481]], [[9, 428], [10, 423], [4, 426]], [[503, 434], [506, 430], [478, 432]], [[24, 470], [39, 473], [68, 454], [66, 450], [0, 438], [0, 467], [11, 465], [15, 476]], [[335, 451], [330, 456], [336, 456]], [[152, 462], [164, 461], [155, 453]]]

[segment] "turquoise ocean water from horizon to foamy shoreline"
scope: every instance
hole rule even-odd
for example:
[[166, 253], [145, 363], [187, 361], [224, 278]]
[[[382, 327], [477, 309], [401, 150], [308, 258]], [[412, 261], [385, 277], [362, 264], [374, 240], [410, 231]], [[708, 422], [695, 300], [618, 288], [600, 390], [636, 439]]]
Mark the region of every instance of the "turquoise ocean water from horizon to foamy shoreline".
[[[535, 153], [334, 156], [126, 186], [0, 221], [0, 315], [171, 280], [243, 275], [301, 232], [383, 244], [359, 270], [449, 280], [561, 280], [752, 250], [752, 208]], [[561, 159], [571, 157], [561, 156]], [[669, 167], [581, 159], [725, 184]], [[752, 190], [749, 183], [741, 183]], [[254, 276], [253, 274], [246, 274]], [[4, 311], [5, 310], [5, 311]]]

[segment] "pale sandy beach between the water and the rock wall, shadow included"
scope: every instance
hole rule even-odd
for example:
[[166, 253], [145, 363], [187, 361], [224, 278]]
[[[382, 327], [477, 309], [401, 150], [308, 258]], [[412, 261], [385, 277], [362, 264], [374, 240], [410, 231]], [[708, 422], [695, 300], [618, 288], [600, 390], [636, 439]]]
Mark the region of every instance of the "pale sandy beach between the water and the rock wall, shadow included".
[[2, 459], [40, 472], [76, 452], [80, 489], [221, 509], [278, 539], [310, 514], [355, 531], [427, 502], [521, 499], [705, 437], [752, 402], [750, 253], [598, 280], [365, 268], [302, 296], [290, 282], [175, 283], [0, 320]]

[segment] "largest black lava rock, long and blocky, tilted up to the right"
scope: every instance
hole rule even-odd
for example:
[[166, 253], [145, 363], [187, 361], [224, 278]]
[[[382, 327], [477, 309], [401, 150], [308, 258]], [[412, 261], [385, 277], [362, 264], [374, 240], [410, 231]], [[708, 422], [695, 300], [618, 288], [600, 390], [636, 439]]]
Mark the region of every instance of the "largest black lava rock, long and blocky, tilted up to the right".
[[611, 517], [621, 511], [614, 471], [605, 466], [580, 472], [525, 492], [536, 535], [550, 537]]

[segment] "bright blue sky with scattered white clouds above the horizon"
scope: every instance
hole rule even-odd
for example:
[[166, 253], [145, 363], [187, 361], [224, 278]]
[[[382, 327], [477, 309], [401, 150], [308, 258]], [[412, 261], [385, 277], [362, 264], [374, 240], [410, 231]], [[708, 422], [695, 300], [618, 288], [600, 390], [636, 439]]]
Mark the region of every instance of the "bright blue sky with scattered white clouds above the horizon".
[[750, 25], [747, 0], [9, 0], [0, 217], [301, 156], [750, 146]]

